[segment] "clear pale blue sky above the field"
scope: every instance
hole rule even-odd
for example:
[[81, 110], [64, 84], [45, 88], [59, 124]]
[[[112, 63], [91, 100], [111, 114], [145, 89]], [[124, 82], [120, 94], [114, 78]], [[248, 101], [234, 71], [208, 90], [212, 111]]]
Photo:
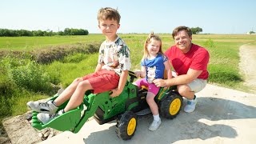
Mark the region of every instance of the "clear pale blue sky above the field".
[[0, 28], [100, 33], [97, 12], [106, 6], [121, 14], [119, 33], [171, 33], [176, 26], [210, 34], [256, 31], [255, 0], [2, 0]]

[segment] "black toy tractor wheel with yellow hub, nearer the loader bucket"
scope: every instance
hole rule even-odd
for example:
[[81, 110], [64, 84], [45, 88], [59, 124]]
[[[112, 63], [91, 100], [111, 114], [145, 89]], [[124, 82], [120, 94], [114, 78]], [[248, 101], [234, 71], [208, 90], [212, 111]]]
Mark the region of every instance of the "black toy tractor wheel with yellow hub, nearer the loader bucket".
[[120, 114], [117, 119], [116, 133], [119, 138], [128, 140], [134, 136], [137, 127], [137, 115], [132, 111]]

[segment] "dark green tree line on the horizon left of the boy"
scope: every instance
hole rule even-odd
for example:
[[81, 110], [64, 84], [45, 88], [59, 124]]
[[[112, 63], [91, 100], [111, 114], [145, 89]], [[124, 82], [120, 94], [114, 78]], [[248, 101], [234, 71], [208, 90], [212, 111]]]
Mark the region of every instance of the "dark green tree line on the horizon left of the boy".
[[53, 30], [9, 30], [0, 29], [0, 37], [34, 37], [54, 35], [88, 35], [88, 30], [66, 28], [64, 31], [54, 32]]

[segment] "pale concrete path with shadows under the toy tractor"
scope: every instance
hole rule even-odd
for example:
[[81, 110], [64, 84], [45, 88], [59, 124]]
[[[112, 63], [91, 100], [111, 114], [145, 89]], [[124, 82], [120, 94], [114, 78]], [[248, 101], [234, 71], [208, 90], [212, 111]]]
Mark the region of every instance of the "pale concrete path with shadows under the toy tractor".
[[151, 115], [139, 117], [137, 130], [129, 141], [116, 136], [115, 121], [98, 125], [91, 120], [78, 134], [66, 131], [41, 143], [256, 143], [255, 94], [208, 84], [197, 95], [198, 105], [193, 113], [181, 111], [173, 120], [162, 118], [162, 125], [155, 132], [148, 130]]

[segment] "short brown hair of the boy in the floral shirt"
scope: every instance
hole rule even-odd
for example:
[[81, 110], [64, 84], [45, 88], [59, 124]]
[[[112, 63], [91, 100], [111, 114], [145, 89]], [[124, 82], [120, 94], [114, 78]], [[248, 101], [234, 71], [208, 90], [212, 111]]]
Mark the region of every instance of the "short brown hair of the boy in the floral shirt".
[[120, 22], [121, 16], [118, 13], [118, 10], [114, 10], [111, 7], [105, 7], [98, 10], [98, 22], [100, 20], [106, 20], [106, 19], [114, 19], [118, 22]]

